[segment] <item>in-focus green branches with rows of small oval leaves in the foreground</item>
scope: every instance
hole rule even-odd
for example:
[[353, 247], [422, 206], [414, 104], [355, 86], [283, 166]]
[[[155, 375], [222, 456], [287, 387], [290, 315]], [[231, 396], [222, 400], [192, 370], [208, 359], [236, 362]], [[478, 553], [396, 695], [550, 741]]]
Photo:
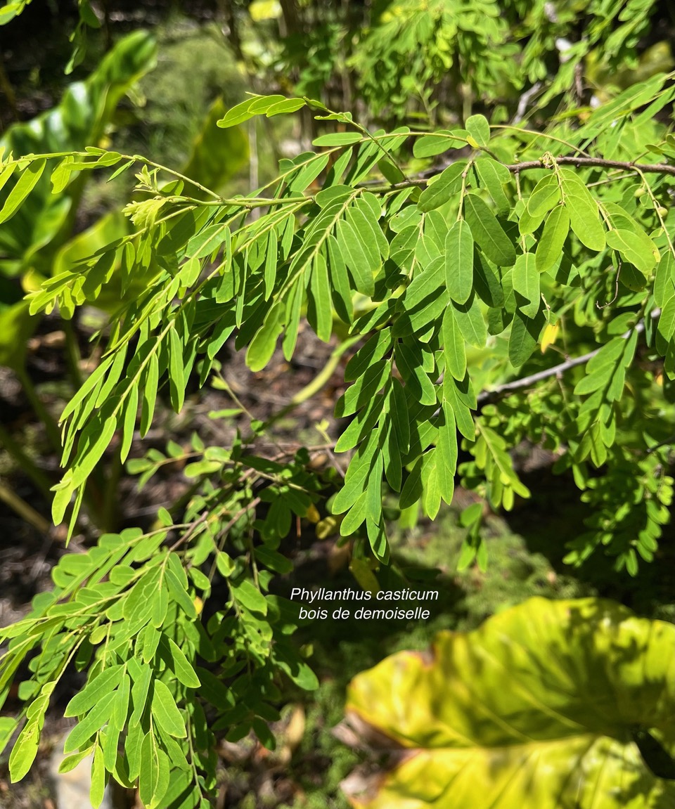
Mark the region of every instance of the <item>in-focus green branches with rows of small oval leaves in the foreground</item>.
[[[634, 47], [650, 7], [635, 4], [612, 53]], [[659, 73], [592, 110], [568, 96], [541, 131], [466, 114], [461, 127], [430, 133], [370, 131], [320, 101], [253, 95], [218, 113], [233, 142], [255, 116], [300, 110], [337, 131], [246, 195], [220, 193], [206, 160], [178, 172], [96, 144], [4, 156], [0, 224], [30, 210], [47, 183], [58, 198], [87, 172], [135, 172], [125, 225], [107, 231], [113, 214], [80, 235], [28, 295], [32, 314], [57, 309], [66, 320], [117, 302], [98, 335], [100, 362], [61, 416], [66, 472], [53, 519], [69, 519], [69, 536], [96, 464], [111, 447], [127, 460], [163, 392], [180, 412], [198, 379], [234, 400], [211, 418], [244, 410], [219, 373], [226, 343], [261, 371], [279, 342], [291, 361], [307, 320], [335, 347], [304, 396], [355, 349], [335, 408], [347, 420], [334, 447], [349, 453], [343, 480], [316, 469], [313, 447], [261, 451], [259, 439], [274, 443], [274, 418], [248, 413], [248, 431], [227, 447], [195, 434], [189, 449], [168, 443], [129, 460], [141, 484], [185, 463], [192, 486], [150, 531], [107, 534], [64, 557], [54, 591], [0, 630], [10, 642], [2, 700], [34, 655], [14, 779], [36, 755], [55, 684], [71, 665], [88, 667], [66, 747], [71, 763], [94, 753], [94, 803], [113, 776], [138, 783], [150, 807], [206, 806], [212, 733], [233, 741], [253, 729], [271, 746], [284, 678], [317, 684], [287, 640], [296, 605], [272, 595], [274, 574], [292, 567], [283, 543], [293, 523], [327, 512], [322, 536], [339, 526], [354, 578], [376, 591], [388, 516], [414, 520], [421, 509], [435, 519], [457, 476], [511, 510], [530, 494], [513, 460], [521, 443], [552, 452], [595, 508], [567, 561], [604, 549], [630, 574], [639, 558], [652, 561], [673, 493], [675, 139], [657, 120], [673, 98], [673, 76]], [[461, 569], [486, 566], [482, 519], [478, 503], [463, 512]], [[592, 730], [625, 735], [626, 722]], [[639, 723], [636, 734], [664, 729], [656, 716]], [[2, 720], [5, 743], [17, 727]], [[664, 789], [645, 778], [636, 801]]]

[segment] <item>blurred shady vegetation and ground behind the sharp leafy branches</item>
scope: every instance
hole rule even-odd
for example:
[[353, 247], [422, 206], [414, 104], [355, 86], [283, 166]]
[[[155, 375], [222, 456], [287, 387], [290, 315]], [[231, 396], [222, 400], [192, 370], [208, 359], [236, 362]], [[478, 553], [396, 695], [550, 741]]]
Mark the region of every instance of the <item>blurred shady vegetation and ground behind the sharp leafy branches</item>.
[[[151, 37], [129, 40], [141, 31]], [[284, 116], [216, 130], [216, 117], [246, 91], [308, 95], [329, 108], [350, 110], [372, 127], [405, 122], [427, 129], [489, 110], [495, 123], [527, 120], [537, 128], [569, 106], [583, 116], [584, 109], [630, 83], [672, 69], [674, 32], [669, 0], [100, 0], [91, 6], [32, 0], [0, 27], [1, 142], [17, 151], [96, 142], [184, 167], [189, 176], [227, 193], [248, 193], [274, 176], [279, 159], [307, 147], [316, 121]], [[69, 61], [74, 64], [66, 74]], [[426, 167], [411, 163], [413, 172]], [[49, 197], [39, 216], [29, 221], [28, 212], [0, 232], [2, 624], [14, 621], [36, 591], [49, 587], [49, 570], [64, 553], [62, 536], [49, 527], [49, 486], [58, 475], [56, 418], [90, 369], [89, 339], [105, 316], [91, 307], [73, 320], [57, 313], [29, 316], [22, 297], [59, 268], [91, 254], [104, 233], [110, 239], [116, 228], [126, 227], [120, 210], [133, 180], [106, 180], [88, 177], [67, 195]], [[45, 200], [48, 195], [49, 186]], [[132, 285], [126, 294], [133, 293]], [[115, 306], [114, 300], [108, 303]], [[307, 340], [301, 352], [306, 364], [301, 360], [291, 369], [297, 379], [291, 387], [301, 388], [325, 363], [327, 354], [316, 354]], [[274, 369], [246, 375], [243, 362], [226, 350], [227, 362], [235, 377], [240, 374], [240, 396], [257, 417], [279, 409], [283, 400], [274, 399], [274, 392], [284, 388]], [[316, 441], [314, 426], [332, 419], [340, 392], [329, 388], [318, 410], [298, 409], [280, 426], [291, 438], [312, 435]], [[180, 417], [163, 409], [148, 437], [151, 446], [163, 450], [169, 440], [185, 445], [193, 430], [211, 429], [206, 413], [218, 406], [223, 401], [214, 392], [198, 393], [195, 386]], [[397, 565], [436, 576], [441, 600], [431, 620], [360, 622], [358, 628], [326, 621], [301, 630], [321, 688], [311, 699], [287, 695], [274, 754], [261, 756], [250, 739], [223, 745], [220, 806], [346, 807], [338, 785], [359, 754], [330, 732], [342, 718], [346, 683], [386, 654], [427, 646], [438, 629], [471, 629], [531, 595], [606, 595], [642, 615], [675, 620], [669, 536], [636, 579], [612, 570], [602, 558], [575, 570], [563, 565], [564, 544], [579, 532], [588, 511], [571, 481], [552, 476], [553, 460], [522, 448], [520, 473], [526, 485], [536, 481], [529, 485], [533, 499], [516, 504], [508, 521], [481, 505], [490, 549], [486, 571], [457, 570], [468, 530], [458, 515], [472, 502], [461, 502], [461, 490], [456, 507], [443, 510], [435, 523], [402, 519], [393, 527], [392, 576]], [[101, 531], [148, 523], [158, 506], [175, 503], [189, 487], [176, 462], [138, 492], [135, 479], [112, 455], [95, 478], [76, 540], [83, 545]], [[317, 540], [310, 523], [294, 553], [294, 581], [303, 586], [354, 582], [344, 554], [333, 540]], [[0, 786], [5, 767], [0, 760]], [[12, 790], [0, 790], [3, 809], [40, 806], [49, 794], [40, 769], [32, 783]]]

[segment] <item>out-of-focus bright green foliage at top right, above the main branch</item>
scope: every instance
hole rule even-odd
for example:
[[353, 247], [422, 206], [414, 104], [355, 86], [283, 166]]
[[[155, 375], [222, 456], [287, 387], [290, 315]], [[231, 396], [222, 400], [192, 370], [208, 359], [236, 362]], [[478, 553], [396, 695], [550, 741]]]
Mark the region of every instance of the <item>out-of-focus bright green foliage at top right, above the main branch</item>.
[[[499, 123], [524, 116], [523, 98], [537, 98], [535, 114], [561, 98], [580, 102], [585, 79], [606, 100], [673, 66], [666, 43], [640, 53], [654, 0], [326, 3], [320, 20], [309, 7], [277, 7], [287, 29], [277, 58], [282, 86], [295, 75], [298, 95], [346, 108], [363, 101], [380, 121], [426, 126], [489, 106]], [[266, 23], [257, 24], [261, 34]]]

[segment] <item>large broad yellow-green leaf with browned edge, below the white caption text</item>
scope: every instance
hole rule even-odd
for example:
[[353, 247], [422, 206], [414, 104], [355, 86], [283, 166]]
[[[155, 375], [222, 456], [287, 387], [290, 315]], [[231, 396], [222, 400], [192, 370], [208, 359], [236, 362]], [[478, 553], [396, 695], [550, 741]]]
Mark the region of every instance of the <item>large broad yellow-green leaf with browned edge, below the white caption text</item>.
[[[354, 792], [367, 809], [673, 806], [647, 738], [675, 742], [675, 626], [602, 599], [530, 599], [431, 654], [399, 652], [352, 680], [348, 714], [401, 748]], [[647, 733], [651, 735], [647, 736]], [[661, 750], [661, 757], [669, 758]], [[660, 771], [658, 765], [652, 768]], [[351, 781], [359, 783], [359, 781]], [[347, 787], [347, 791], [349, 787]]]

